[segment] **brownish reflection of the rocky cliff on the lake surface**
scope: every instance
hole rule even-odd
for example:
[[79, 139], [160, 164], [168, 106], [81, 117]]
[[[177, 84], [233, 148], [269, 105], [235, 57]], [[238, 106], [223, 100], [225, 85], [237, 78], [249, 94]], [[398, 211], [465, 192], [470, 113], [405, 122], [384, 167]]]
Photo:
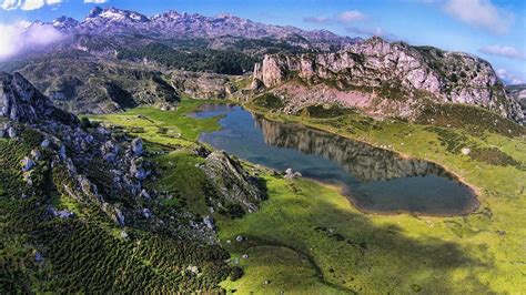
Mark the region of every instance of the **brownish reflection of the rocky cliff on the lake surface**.
[[253, 118], [263, 131], [265, 143], [321, 155], [338, 163], [363, 182], [427, 174], [453, 179], [444, 169], [427, 161], [403, 159], [387, 150], [299, 124], [283, 124], [259, 115]]

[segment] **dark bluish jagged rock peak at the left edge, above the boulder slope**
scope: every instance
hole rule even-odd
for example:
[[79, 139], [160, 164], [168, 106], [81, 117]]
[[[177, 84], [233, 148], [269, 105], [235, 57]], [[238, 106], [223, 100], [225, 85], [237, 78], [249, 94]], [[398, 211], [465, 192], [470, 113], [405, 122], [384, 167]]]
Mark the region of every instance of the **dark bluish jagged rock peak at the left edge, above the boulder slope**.
[[78, 119], [53, 106], [51, 100], [38, 91], [21, 74], [0, 72], [0, 116], [21, 123], [57, 121], [75, 124]]

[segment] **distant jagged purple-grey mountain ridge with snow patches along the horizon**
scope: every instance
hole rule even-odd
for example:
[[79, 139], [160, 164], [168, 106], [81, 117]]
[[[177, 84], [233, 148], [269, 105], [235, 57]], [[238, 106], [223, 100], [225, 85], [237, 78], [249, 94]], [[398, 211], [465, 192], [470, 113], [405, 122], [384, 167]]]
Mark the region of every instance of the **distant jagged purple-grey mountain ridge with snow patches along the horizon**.
[[[37, 22], [42, 24], [43, 22]], [[165, 13], [146, 17], [117, 8], [93, 8], [88, 17], [78, 21], [60, 17], [51, 24], [65, 33], [102, 35], [141, 35], [148, 39], [274, 39], [304, 49], [328, 50], [333, 47], [358, 42], [361, 38], [341, 37], [327, 30], [305, 31], [295, 27], [280, 27], [254, 22], [230, 14], [204, 17], [198, 13]]]

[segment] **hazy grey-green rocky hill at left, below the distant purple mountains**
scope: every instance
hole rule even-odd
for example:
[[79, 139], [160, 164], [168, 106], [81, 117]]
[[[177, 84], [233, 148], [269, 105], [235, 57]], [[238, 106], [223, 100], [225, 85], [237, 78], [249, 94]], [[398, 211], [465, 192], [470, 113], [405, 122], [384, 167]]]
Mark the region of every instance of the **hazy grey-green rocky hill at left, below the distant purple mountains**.
[[161, 72], [114, 60], [73, 54], [44, 55], [14, 69], [54, 104], [73, 113], [108, 113], [138, 105], [170, 109], [181, 100]]

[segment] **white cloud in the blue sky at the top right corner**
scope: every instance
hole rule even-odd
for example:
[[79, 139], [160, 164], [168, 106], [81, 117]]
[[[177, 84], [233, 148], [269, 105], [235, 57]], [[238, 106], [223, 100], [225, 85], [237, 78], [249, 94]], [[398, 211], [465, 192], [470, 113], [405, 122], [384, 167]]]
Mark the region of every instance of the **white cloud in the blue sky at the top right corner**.
[[495, 34], [507, 33], [515, 19], [512, 12], [497, 8], [490, 0], [448, 0], [444, 10], [462, 22]]

